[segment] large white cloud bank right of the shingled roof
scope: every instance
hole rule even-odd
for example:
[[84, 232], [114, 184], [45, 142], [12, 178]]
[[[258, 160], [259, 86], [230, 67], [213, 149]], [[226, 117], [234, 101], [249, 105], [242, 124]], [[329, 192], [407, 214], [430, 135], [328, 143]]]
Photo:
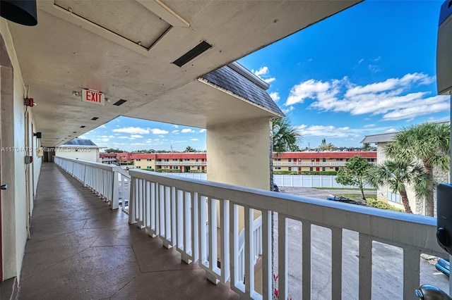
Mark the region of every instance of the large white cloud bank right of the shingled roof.
[[[355, 85], [347, 77], [322, 82], [307, 80], [292, 87], [285, 106], [312, 101], [311, 109], [351, 115], [382, 115], [383, 120], [412, 119], [419, 115], [448, 111], [448, 96], [430, 96], [422, 91], [434, 77], [423, 73], [388, 78], [369, 85]], [[408, 92], [409, 91], [409, 92]]]

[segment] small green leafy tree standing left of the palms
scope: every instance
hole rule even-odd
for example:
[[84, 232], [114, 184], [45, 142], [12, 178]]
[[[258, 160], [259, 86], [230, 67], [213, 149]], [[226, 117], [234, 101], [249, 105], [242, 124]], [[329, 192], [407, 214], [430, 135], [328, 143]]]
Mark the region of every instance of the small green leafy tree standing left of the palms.
[[365, 178], [369, 168], [371, 168], [371, 164], [366, 158], [353, 156], [345, 163], [345, 167], [339, 169], [335, 180], [340, 185], [357, 185], [361, 190], [362, 199], [365, 200], [364, 184], [366, 183]]

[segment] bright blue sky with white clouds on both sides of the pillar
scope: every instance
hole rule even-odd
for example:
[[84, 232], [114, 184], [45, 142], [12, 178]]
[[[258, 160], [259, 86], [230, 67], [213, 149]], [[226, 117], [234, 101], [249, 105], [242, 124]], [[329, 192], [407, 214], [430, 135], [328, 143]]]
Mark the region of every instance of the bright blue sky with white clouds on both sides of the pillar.
[[[239, 60], [302, 135], [360, 146], [365, 135], [449, 120], [436, 90], [436, 33], [443, 1], [364, 1]], [[126, 151], [206, 149], [206, 130], [120, 117], [83, 138]]]

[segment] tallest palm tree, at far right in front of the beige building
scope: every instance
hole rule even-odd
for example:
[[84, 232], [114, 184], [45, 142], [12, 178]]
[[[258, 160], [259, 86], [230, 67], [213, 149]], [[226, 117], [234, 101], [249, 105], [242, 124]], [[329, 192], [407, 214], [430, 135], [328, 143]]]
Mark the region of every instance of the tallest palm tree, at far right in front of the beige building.
[[422, 162], [425, 173], [429, 176], [426, 197], [426, 215], [434, 215], [434, 183], [433, 169], [441, 168], [447, 172], [450, 168], [451, 125], [439, 123], [423, 123], [408, 127], [399, 132], [393, 143], [386, 146], [389, 158], [405, 163]]

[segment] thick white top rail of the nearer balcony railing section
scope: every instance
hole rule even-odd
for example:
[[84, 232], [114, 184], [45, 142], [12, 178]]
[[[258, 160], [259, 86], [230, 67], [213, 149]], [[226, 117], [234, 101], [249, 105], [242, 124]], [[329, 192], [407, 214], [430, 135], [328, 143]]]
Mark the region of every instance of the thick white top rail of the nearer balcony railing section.
[[392, 244], [405, 244], [436, 251], [438, 254], [444, 253], [436, 242], [436, 218], [144, 170], [129, 170], [129, 174], [162, 185], [228, 199], [239, 205], [275, 211], [295, 220], [308, 220], [327, 227], [361, 232], [381, 241], [391, 241]]

